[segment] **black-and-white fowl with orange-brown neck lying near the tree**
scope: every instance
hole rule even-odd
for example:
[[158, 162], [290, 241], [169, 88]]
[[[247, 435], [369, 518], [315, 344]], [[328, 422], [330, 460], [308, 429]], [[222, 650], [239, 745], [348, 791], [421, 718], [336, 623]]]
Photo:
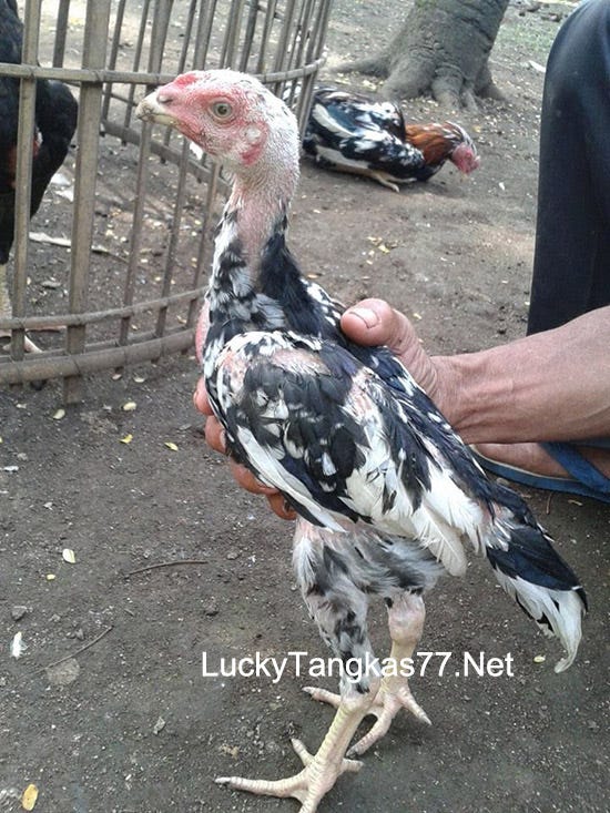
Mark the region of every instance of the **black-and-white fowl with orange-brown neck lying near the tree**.
[[335, 88], [314, 93], [303, 149], [321, 166], [367, 175], [396, 192], [397, 184], [427, 181], [447, 160], [465, 174], [479, 165], [459, 124], [406, 124], [393, 102]]

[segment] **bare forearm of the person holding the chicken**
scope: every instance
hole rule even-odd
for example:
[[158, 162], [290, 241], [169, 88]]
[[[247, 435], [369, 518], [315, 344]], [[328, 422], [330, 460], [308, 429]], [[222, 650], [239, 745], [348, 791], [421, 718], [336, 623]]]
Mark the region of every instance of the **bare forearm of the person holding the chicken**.
[[610, 307], [508, 345], [431, 360], [430, 395], [467, 443], [610, 437]]

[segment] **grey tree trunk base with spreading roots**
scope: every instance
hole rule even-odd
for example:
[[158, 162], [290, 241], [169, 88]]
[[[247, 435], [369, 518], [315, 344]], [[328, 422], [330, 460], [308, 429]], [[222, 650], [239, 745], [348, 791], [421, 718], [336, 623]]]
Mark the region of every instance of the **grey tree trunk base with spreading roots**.
[[488, 65], [509, 0], [415, 0], [403, 27], [376, 57], [343, 70], [386, 78], [389, 99], [431, 93], [441, 104], [476, 108], [502, 95]]

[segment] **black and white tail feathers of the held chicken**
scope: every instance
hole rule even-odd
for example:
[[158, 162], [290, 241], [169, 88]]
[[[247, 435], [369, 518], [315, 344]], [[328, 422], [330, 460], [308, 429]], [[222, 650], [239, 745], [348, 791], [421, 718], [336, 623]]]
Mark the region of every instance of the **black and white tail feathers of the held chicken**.
[[575, 660], [580, 643], [584, 590], [540, 526], [514, 516], [497, 518], [496, 525], [506, 540], [506, 546], [486, 549], [496, 579], [546, 634], [559, 638], [566, 658], [555, 671], [562, 672]]

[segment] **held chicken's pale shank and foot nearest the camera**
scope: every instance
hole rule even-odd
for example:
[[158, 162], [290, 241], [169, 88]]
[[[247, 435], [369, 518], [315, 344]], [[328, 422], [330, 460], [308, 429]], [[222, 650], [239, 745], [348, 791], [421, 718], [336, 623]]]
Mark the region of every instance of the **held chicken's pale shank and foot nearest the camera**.
[[353, 683], [343, 682], [337, 712], [317, 753], [311, 754], [299, 740], [292, 741], [305, 765], [299, 773], [274, 782], [241, 776], [218, 776], [216, 782], [261, 795], [293, 796], [302, 804], [301, 813], [315, 813], [319, 801], [342, 773], [356, 772], [362, 768], [362, 762], [346, 760], [345, 752], [360, 721], [369, 712], [378, 684], [379, 679], [374, 678], [369, 691], [362, 693]]

